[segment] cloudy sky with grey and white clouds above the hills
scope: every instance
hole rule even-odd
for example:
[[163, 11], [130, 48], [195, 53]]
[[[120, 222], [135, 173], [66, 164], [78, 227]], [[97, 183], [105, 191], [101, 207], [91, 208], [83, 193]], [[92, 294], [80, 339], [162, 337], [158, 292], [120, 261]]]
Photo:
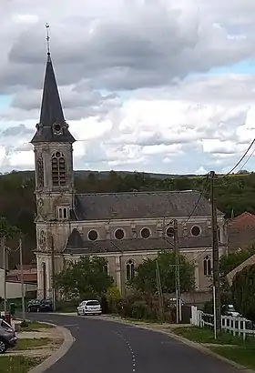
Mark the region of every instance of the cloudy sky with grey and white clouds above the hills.
[[46, 23], [76, 169], [228, 172], [255, 137], [255, 2], [225, 3], [0, 0], [0, 172], [34, 169]]

